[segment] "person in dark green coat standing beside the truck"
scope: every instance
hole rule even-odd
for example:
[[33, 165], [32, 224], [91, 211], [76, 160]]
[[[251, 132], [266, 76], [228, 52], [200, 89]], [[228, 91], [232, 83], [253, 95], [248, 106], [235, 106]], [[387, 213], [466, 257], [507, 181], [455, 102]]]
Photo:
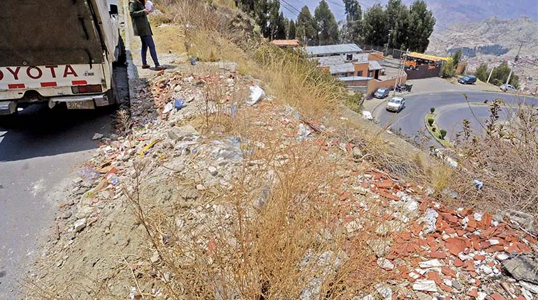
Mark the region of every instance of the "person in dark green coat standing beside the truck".
[[142, 68], [150, 68], [146, 60], [147, 48], [150, 48], [155, 70], [164, 70], [165, 68], [159, 64], [159, 59], [157, 58], [152, 27], [150, 26], [150, 21], [147, 20], [148, 13], [150, 13], [150, 10], [145, 8], [145, 0], [129, 0], [129, 15], [131, 15], [131, 21], [133, 22], [133, 31], [135, 36], [140, 36], [142, 41]]

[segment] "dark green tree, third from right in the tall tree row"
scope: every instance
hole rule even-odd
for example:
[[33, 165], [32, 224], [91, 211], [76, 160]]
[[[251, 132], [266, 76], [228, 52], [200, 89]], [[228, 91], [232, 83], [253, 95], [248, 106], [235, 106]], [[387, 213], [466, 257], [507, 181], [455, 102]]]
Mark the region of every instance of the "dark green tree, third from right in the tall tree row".
[[382, 46], [388, 39], [388, 30], [385, 26], [386, 15], [381, 4], [377, 3], [366, 10], [362, 22], [362, 36], [369, 45]]

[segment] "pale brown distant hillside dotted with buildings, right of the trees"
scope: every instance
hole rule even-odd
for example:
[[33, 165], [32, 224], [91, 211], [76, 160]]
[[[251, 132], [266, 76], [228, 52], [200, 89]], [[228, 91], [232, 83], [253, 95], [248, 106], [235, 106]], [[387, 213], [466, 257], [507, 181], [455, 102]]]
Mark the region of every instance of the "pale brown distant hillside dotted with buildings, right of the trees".
[[537, 54], [538, 23], [529, 17], [500, 19], [490, 17], [482, 22], [457, 23], [436, 31], [430, 37], [428, 53], [451, 54], [462, 48], [466, 57], [477, 54], [515, 56], [523, 42], [521, 55]]

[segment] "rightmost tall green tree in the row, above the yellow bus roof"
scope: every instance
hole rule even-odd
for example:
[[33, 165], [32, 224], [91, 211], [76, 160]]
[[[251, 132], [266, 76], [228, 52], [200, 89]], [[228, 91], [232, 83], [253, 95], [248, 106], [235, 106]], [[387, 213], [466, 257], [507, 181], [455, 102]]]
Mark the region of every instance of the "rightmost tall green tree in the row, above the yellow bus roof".
[[435, 17], [432, 11], [428, 10], [426, 2], [423, 0], [413, 2], [409, 7], [407, 23], [407, 47], [412, 51], [425, 52], [435, 26]]

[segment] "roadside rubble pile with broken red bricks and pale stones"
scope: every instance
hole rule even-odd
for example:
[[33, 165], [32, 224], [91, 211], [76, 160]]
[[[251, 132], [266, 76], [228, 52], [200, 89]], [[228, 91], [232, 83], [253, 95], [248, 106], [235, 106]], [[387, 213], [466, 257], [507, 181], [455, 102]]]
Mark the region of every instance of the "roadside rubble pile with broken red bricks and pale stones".
[[[271, 171], [275, 165], [282, 167], [300, 155], [293, 149], [312, 149], [333, 164], [331, 171], [338, 179], [328, 187], [337, 195], [331, 226], [344, 227], [349, 243], [371, 230], [363, 246], [371, 251], [371, 267], [388, 278], [373, 283], [375, 292], [354, 299], [538, 298], [537, 240], [532, 232], [519, 229], [532, 229], [532, 224], [521, 224], [522, 218], [514, 213], [493, 216], [446, 207], [432, 198], [430, 188], [405, 183], [364, 161], [367, 150], [360, 140], [340, 137], [334, 128], [266, 96], [260, 82], [240, 75], [233, 65], [216, 70], [213, 66], [197, 73], [157, 75], [131, 100], [134, 125], [128, 134], [94, 136], [101, 146], [80, 167], [72, 197], [60, 206], [54, 246], [41, 262], [52, 269], [49, 276], [38, 276], [40, 283], [66, 280], [71, 274], [68, 268], [76, 267], [85, 273], [96, 271], [97, 280], [117, 294], [130, 293], [131, 299], [139, 299], [141, 293], [159, 297], [163, 295], [159, 280], [166, 278], [154, 276], [159, 280], [140, 286], [132, 282], [131, 272], [156, 273], [163, 257], [154, 253], [144, 259], [142, 249], [149, 248], [150, 253], [155, 249], [143, 239], [140, 223], [132, 216], [122, 219], [129, 213], [126, 198], [138, 189], [136, 184], [154, 203], [170, 205], [168, 217], [179, 232], [202, 237], [211, 230], [208, 220], [221, 220], [224, 227], [236, 220], [231, 204], [210, 198], [233, 188], [245, 174], [242, 170], [266, 182], [245, 187], [260, 189], [261, 196], [253, 203], [260, 209], [278, 180]], [[242, 126], [235, 128], [233, 120]], [[274, 153], [270, 159], [262, 155], [269, 150]], [[110, 256], [118, 249], [140, 256], [123, 257], [127, 268], [122, 259], [106, 263], [99, 258], [103, 248], [87, 254], [92, 239], [99, 239], [105, 248], [112, 240]], [[167, 239], [163, 233], [161, 242]], [[208, 253], [216, 251], [212, 239], [198, 242]], [[338, 266], [330, 266], [333, 260], [327, 257], [333, 256], [339, 257]], [[333, 267], [345, 264], [350, 256], [353, 253], [305, 253], [304, 265], [316, 262], [324, 277], [307, 280], [300, 299], [319, 299], [322, 278], [334, 276]], [[62, 268], [63, 275], [50, 276]], [[124, 285], [112, 280], [120, 273]]]

